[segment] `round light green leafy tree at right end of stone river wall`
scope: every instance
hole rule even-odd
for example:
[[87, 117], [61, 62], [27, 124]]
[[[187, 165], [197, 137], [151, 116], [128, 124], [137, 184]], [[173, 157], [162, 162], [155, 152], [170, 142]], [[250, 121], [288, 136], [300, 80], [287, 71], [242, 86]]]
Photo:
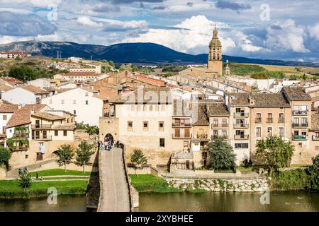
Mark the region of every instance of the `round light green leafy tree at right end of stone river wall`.
[[286, 142], [279, 136], [257, 141], [256, 148], [257, 157], [268, 168], [270, 175], [281, 167], [289, 167], [295, 150], [290, 141]]

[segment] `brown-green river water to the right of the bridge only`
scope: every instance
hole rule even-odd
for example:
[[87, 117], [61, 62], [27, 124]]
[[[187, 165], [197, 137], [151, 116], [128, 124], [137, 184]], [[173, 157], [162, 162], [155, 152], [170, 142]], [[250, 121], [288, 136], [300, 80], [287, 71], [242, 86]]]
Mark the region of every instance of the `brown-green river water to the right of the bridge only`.
[[270, 204], [260, 203], [259, 193], [140, 194], [136, 211], [319, 211], [319, 193], [270, 193]]

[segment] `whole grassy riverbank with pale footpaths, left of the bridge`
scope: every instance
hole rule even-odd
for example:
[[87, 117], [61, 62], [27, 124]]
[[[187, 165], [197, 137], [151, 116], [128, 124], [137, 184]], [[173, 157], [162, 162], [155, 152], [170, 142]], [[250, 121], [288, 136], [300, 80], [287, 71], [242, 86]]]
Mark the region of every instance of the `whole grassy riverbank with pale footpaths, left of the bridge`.
[[36, 179], [28, 189], [21, 188], [18, 179], [0, 180], [0, 198], [43, 198], [49, 188], [57, 189], [57, 195], [85, 195], [90, 172], [63, 169], [30, 172], [31, 177], [37, 174], [43, 180]]

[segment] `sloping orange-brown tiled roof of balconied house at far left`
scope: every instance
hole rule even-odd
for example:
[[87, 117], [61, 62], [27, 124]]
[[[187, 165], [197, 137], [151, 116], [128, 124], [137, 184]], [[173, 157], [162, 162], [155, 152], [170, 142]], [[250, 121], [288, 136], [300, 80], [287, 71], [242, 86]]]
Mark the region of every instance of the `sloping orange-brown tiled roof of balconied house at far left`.
[[45, 106], [46, 105], [25, 105], [21, 109], [17, 109], [6, 124], [6, 128], [30, 124], [31, 110], [33, 109], [34, 112], [39, 112], [40, 109], [43, 109]]

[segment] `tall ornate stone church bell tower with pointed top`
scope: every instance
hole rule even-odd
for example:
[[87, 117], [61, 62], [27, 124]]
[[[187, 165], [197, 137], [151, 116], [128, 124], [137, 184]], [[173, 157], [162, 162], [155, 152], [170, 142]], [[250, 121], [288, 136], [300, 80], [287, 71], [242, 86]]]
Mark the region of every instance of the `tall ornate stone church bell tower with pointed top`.
[[223, 56], [222, 56], [222, 45], [218, 39], [218, 30], [213, 30], [213, 39], [209, 43], [209, 54], [208, 54], [208, 69], [218, 73], [218, 76], [223, 76]]

